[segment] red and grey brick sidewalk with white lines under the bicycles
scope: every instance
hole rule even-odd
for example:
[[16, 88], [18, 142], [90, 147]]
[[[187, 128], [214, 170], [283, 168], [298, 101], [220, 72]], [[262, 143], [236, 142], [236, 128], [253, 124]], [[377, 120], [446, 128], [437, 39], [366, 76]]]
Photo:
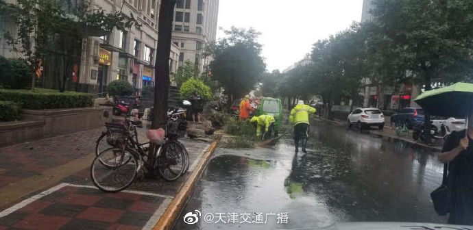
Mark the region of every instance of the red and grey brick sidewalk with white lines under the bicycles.
[[101, 130], [0, 148], [5, 159], [0, 162], [0, 230], [150, 229], [209, 146], [182, 138], [191, 164], [186, 175], [173, 182], [137, 180], [128, 190], [110, 194], [90, 181]]

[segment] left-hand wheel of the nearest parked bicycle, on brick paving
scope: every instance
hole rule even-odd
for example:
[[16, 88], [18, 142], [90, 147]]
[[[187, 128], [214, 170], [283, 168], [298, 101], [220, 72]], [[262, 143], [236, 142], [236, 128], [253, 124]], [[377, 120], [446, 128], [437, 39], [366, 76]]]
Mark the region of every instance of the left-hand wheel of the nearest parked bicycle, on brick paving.
[[90, 166], [90, 177], [93, 183], [104, 192], [119, 192], [128, 188], [137, 174], [138, 159], [128, 148], [106, 149], [95, 157]]

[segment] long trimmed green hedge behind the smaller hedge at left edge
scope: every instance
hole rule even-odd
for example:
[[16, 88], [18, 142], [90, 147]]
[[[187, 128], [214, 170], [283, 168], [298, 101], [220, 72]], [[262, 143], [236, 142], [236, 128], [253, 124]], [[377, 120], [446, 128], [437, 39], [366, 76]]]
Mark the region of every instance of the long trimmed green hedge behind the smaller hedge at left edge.
[[0, 101], [14, 101], [23, 109], [43, 110], [71, 107], [90, 107], [93, 94], [82, 92], [58, 92], [56, 90], [7, 90], [0, 89]]

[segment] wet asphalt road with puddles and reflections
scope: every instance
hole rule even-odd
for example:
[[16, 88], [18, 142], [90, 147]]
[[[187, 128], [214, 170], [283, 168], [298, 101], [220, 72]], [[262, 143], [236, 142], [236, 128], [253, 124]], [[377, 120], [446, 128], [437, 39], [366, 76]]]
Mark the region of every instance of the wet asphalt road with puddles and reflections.
[[[312, 229], [347, 221], [446, 222], [435, 214], [429, 196], [441, 183], [443, 166], [437, 154], [400, 140], [322, 122], [311, 125], [306, 155], [295, 155], [289, 136], [270, 149], [217, 149], [174, 229]], [[184, 223], [184, 215], [196, 209], [202, 213], [199, 221]], [[278, 223], [277, 214], [284, 212], [288, 223]], [[207, 215], [206, 222], [208, 213], [213, 218]], [[231, 213], [238, 214], [233, 214], [236, 220]], [[266, 223], [255, 223], [254, 218], [259, 221], [257, 213], [263, 214]]]

